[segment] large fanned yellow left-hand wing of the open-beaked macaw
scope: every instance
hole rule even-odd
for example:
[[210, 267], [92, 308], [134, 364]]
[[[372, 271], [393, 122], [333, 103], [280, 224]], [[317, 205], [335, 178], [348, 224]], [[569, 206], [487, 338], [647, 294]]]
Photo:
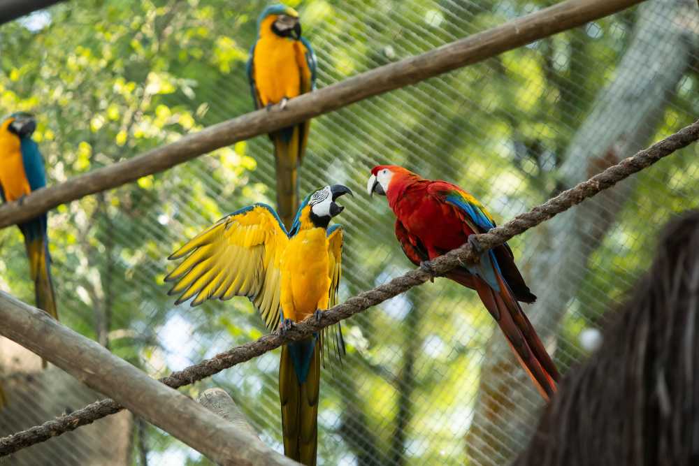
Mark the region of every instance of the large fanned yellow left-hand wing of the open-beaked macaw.
[[280, 319], [282, 253], [289, 236], [269, 205], [258, 203], [217, 221], [180, 247], [168, 259], [185, 258], [165, 277], [175, 282], [175, 304], [194, 298], [196, 306], [210, 298], [247, 296], [273, 330]]

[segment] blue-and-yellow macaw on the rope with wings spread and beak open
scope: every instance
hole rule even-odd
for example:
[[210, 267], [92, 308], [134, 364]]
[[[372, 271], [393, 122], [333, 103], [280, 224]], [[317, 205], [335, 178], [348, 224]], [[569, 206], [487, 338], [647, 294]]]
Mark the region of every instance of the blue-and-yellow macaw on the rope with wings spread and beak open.
[[[343, 229], [329, 227], [344, 207], [335, 201], [352, 194], [341, 184], [326, 186], [305, 198], [287, 231], [266, 204], [240, 209], [197, 235], [169, 259], [185, 259], [165, 278], [175, 282], [176, 304], [192, 299], [228, 300], [247, 296], [270, 330], [288, 330], [294, 322], [336, 304], [342, 259]], [[332, 330], [337, 356], [345, 351], [340, 324]], [[284, 454], [315, 465], [318, 395], [322, 348], [320, 335], [282, 347], [279, 398]]]

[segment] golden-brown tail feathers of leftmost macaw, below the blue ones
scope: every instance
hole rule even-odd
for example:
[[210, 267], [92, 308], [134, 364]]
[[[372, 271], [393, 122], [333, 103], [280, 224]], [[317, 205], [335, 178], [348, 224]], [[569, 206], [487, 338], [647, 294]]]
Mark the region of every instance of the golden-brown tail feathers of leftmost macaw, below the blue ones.
[[[29, 257], [31, 279], [34, 280], [36, 307], [44, 310], [54, 319], [58, 319], [46, 236], [44, 234], [33, 236], [25, 235], [24, 246], [27, 248], [27, 256]], [[42, 359], [41, 363], [43, 367], [46, 367], [45, 360]], [[0, 398], [2, 397], [0, 396]]]

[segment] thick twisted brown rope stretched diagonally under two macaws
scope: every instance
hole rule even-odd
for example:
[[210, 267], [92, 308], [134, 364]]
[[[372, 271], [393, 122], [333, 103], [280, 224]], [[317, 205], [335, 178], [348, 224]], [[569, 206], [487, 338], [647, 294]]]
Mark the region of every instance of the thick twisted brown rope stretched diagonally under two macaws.
[[[377, 286], [375, 289], [364, 291], [359, 295], [349, 298], [340, 305], [336, 305], [331, 310], [322, 313], [319, 321], [306, 319], [281, 335], [271, 333], [261, 337], [259, 340], [249, 342], [239, 347], [217, 354], [213, 358], [201, 361], [201, 363], [189, 366], [178, 372], [173, 372], [160, 379], [164, 384], [172, 388], [189, 385], [195, 381], [205, 379], [233, 365], [250, 361], [250, 359], [265, 354], [275, 348], [292, 341], [301, 340], [311, 333], [331, 326], [359, 312], [367, 310], [377, 304], [384, 302], [394, 296], [405, 293], [413, 286], [418, 286], [430, 280], [433, 275], [444, 275], [452, 268], [463, 263], [474, 263], [480, 254], [487, 249], [502, 245], [515, 235], [527, 231], [533, 226], [554, 217], [570, 207], [577, 205], [586, 198], [595, 196], [600, 191], [608, 189], [626, 177], [637, 173], [644, 168], [651, 166], [663, 157], [672, 154], [682, 147], [686, 147], [699, 139], [699, 120], [686, 126], [682, 130], [668, 136], [658, 143], [651, 145], [647, 149], [637, 152], [634, 156], [624, 159], [617, 165], [607, 168], [602, 173], [591, 177], [589, 180], [577, 184], [572, 189], [563, 191], [558, 196], [549, 199], [545, 203], [534, 207], [529, 212], [518, 215], [502, 226], [491, 229], [488, 233], [475, 235], [476, 241], [468, 243], [459, 249], [454, 249], [447, 254], [434, 259], [431, 262], [432, 273], [423, 268], [410, 270], [399, 277], [391, 279], [390, 282]], [[476, 250], [478, 249], [478, 250]], [[106, 399], [87, 405], [78, 411], [59, 416], [42, 425], [17, 432], [8, 437], [0, 439], [0, 456], [6, 456], [20, 449], [27, 448], [39, 442], [64, 432], [75, 430], [81, 425], [86, 425], [99, 418], [115, 414], [123, 409], [114, 400]]]

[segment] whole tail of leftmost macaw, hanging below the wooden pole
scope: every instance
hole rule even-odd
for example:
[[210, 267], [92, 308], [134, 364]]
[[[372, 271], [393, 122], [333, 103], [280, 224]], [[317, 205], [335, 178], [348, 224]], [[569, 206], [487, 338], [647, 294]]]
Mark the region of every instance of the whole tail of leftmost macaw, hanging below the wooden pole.
[[[58, 319], [56, 296], [51, 279], [50, 256], [48, 254], [48, 236], [46, 235], [46, 214], [20, 225], [24, 235], [24, 246], [29, 257], [29, 270], [34, 280], [36, 307]], [[46, 361], [42, 361], [46, 367]]]

